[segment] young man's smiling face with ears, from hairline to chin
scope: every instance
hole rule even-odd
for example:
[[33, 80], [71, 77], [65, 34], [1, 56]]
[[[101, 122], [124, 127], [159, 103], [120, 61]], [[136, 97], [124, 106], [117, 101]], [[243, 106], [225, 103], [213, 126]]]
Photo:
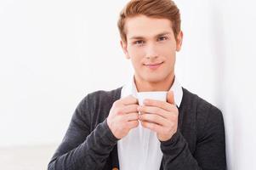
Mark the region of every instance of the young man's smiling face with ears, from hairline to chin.
[[126, 20], [127, 43], [122, 49], [134, 66], [135, 78], [140, 82], [162, 82], [174, 77], [175, 54], [182, 42], [178, 41], [170, 20], [138, 15]]

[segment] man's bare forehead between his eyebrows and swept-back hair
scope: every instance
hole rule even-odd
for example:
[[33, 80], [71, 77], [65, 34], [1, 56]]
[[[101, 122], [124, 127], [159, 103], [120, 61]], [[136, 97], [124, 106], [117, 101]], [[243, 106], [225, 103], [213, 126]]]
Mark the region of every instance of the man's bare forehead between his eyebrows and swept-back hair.
[[125, 31], [129, 37], [154, 37], [162, 32], [173, 32], [172, 22], [168, 19], [156, 19], [145, 15], [128, 18]]

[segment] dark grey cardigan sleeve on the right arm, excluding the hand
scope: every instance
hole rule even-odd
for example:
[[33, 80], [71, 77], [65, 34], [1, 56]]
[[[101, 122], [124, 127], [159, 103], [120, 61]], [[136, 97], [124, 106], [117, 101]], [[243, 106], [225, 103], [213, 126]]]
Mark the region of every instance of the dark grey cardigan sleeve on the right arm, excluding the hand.
[[163, 169], [225, 170], [225, 128], [221, 112], [211, 107], [192, 155], [183, 135], [161, 142]]

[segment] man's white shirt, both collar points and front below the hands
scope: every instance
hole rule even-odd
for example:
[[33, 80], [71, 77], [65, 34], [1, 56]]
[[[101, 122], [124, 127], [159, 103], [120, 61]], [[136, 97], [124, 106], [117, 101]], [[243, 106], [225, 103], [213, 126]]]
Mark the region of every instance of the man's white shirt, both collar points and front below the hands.
[[[170, 90], [174, 91], [174, 101], [179, 107], [183, 91], [176, 77]], [[130, 94], [137, 98], [137, 93], [134, 77], [132, 77], [122, 87], [121, 99]], [[161, 166], [160, 141], [155, 132], [142, 127], [140, 123], [138, 127], [131, 129], [127, 136], [118, 140], [117, 152], [121, 170], [156, 170]]]

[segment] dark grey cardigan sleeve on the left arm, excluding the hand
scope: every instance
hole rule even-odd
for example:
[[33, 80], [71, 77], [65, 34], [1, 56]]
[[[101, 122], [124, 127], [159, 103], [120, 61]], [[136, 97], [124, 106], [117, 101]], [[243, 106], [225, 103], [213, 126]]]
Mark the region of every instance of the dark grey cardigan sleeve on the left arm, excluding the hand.
[[48, 170], [102, 169], [117, 144], [106, 120], [90, 132], [88, 96], [77, 106], [65, 137], [48, 164]]

